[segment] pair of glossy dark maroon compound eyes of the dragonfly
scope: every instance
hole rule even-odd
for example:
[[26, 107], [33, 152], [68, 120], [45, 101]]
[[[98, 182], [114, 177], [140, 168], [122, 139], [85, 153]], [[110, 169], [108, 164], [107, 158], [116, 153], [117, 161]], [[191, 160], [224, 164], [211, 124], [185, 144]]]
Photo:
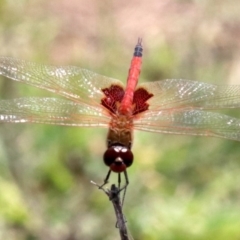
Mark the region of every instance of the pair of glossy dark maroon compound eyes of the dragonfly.
[[123, 146], [111, 146], [103, 155], [103, 160], [109, 167], [112, 164], [119, 164], [120, 159], [126, 167], [131, 166], [133, 163], [132, 151]]

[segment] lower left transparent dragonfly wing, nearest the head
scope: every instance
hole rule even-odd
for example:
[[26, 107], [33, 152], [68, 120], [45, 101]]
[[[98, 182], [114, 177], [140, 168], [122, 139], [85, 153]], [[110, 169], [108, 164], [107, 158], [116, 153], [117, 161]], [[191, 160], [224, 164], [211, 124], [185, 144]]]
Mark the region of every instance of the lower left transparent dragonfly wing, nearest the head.
[[102, 108], [65, 99], [34, 97], [0, 101], [0, 122], [108, 127], [109, 121]]

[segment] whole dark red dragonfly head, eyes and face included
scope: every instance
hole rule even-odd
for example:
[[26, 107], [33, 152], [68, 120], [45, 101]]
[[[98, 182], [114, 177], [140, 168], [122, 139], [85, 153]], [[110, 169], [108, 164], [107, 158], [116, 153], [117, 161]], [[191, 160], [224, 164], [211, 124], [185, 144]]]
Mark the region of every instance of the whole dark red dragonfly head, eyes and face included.
[[113, 145], [104, 153], [103, 161], [113, 172], [123, 172], [132, 165], [133, 153], [125, 146]]

